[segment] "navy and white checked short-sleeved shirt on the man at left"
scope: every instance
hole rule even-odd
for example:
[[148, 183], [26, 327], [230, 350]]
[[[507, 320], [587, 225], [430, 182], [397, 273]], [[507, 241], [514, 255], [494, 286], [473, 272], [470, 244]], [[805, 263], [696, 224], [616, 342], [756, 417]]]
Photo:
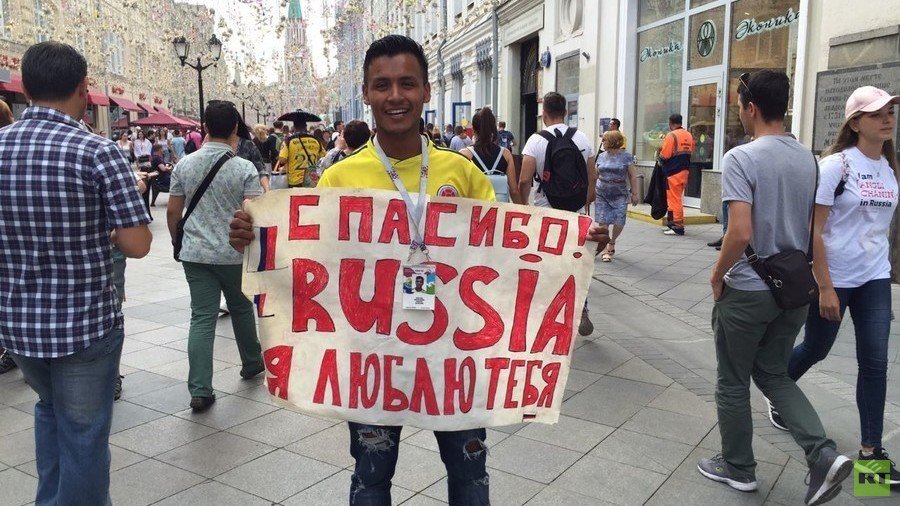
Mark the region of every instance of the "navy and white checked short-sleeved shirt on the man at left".
[[63, 357], [121, 326], [110, 231], [147, 223], [115, 142], [45, 107], [0, 129], [0, 345]]

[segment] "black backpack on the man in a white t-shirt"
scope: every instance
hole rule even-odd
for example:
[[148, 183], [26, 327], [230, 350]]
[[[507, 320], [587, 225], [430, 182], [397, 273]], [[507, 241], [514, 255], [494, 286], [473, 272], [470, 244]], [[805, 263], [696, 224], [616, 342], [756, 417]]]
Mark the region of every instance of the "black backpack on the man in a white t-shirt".
[[587, 162], [572, 140], [576, 131], [569, 128], [561, 134], [554, 130], [554, 135], [544, 130], [539, 134], [547, 139], [547, 154], [543, 178], [538, 182], [554, 209], [579, 211], [587, 204]]

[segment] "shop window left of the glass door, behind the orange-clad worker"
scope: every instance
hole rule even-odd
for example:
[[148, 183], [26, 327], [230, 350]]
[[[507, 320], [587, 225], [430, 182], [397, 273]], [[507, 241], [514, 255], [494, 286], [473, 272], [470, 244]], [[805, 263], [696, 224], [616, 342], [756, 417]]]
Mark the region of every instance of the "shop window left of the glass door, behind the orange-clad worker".
[[669, 115], [681, 112], [683, 39], [684, 20], [638, 34], [634, 154], [639, 160], [656, 158]]

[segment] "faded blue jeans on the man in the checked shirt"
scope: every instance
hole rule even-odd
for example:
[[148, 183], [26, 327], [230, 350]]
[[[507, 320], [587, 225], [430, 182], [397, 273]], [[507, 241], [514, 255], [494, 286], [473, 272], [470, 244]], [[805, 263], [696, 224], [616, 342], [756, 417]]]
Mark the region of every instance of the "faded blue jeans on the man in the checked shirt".
[[123, 329], [113, 329], [66, 357], [14, 356], [40, 398], [34, 406], [38, 506], [110, 504], [109, 428], [123, 337]]

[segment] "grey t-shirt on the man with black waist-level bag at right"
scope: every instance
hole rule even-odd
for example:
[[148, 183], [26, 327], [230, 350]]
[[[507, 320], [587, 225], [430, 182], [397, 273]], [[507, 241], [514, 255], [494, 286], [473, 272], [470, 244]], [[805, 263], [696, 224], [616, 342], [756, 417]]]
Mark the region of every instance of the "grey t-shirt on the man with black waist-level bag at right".
[[[790, 135], [766, 135], [733, 148], [722, 160], [722, 201], [752, 208], [750, 245], [760, 258], [809, 246], [810, 211], [815, 199], [812, 153]], [[743, 256], [725, 283], [737, 290], [769, 288]]]

